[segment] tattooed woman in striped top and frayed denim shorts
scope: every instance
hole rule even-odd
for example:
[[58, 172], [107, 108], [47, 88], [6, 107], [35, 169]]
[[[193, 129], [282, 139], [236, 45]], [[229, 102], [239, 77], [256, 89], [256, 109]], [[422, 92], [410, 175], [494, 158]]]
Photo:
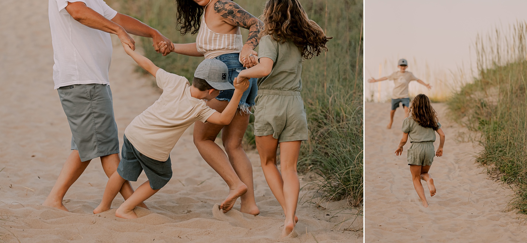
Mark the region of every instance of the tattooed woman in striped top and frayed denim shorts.
[[[230, 0], [176, 0], [177, 23], [181, 34], [196, 34], [196, 42], [173, 44], [173, 52], [194, 57], [218, 59], [229, 68], [225, 78], [230, 83], [245, 69], [242, 60], [256, 55], [253, 50], [258, 45], [261, 21]], [[240, 27], [249, 30], [245, 44]], [[164, 46], [166, 48], [167, 46]], [[164, 49], [162, 49], [164, 50]], [[254, 63], [256, 64], [256, 63]], [[246, 67], [253, 63], [247, 62]], [[223, 212], [232, 209], [241, 198], [240, 211], [257, 215], [260, 213], [255, 201], [252, 166], [242, 147], [242, 139], [249, 124], [250, 108], [255, 105], [258, 92], [256, 79], [249, 80], [250, 86], [238, 106], [238, 112], [227, 126], [198, 121], [194, 124], [194, 144], [201, 156], [229, 185], [229, 195], [220, 205]], [[224, 90], [207, 105], [217, 111], [227, 107], [233, 90]], [[214, 143], [221, 133], [225, 152]]]

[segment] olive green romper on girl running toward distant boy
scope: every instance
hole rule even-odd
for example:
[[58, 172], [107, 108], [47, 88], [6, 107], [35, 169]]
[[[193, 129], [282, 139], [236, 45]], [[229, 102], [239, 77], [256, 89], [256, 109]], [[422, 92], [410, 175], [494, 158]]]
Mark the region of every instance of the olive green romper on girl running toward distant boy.
[[[441, 128], [441, 123], [437, 125]], [[412, 116], [404, 119], [401, 130], [408, 134], [409, 141], [412, 143], [407, 150], [408, 165], [432, 165], [435, 156], [435, 130], [431, 127], [422, 127]]]

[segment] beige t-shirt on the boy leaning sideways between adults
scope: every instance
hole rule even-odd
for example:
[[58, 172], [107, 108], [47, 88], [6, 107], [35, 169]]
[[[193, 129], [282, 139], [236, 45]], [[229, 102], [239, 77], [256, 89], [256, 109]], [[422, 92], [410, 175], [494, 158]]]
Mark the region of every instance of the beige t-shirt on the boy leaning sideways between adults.
[[159, 69], [155, 81], [163, 94], [132, 120], [124, 134], [142, 154], [167, 161], [183, 132], [197, 120], [206, 123], [216, 110], [204, 100], [190, 96], [190, 84], [185, 77]]

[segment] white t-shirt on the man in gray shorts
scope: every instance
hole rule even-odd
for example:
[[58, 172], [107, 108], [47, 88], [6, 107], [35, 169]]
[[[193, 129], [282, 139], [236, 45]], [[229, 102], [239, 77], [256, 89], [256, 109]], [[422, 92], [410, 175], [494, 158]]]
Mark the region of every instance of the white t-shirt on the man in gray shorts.
[[88, 83], [109, 85], [110, 34], [74, 20], [65, 9], [67, 2], [83, 2], [109, 20], [117, 14], [103, 0], [49, 0], [54, 89]]

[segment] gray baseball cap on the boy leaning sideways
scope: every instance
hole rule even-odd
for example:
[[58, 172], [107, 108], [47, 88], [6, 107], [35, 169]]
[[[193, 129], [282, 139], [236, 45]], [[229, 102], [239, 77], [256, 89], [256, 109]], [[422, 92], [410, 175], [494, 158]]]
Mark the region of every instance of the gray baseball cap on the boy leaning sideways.
[[234, 89], [228, 80], [229, 69], [218, 59], [205, 59], [196, 68], [194, 77], [204, 79], [210, 86], [218, 90]]

